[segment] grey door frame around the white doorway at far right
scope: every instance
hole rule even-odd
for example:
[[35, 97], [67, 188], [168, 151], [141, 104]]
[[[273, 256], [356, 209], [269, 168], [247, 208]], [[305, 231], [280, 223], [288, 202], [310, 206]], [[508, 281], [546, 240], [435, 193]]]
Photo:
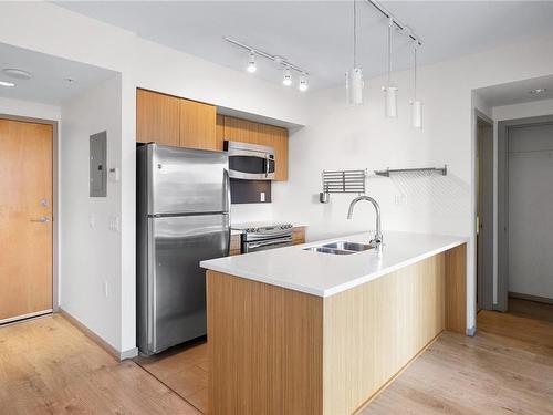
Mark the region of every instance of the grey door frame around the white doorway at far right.
[[551, 123], [553, 123], [553, 114], [498, 122], [498, 302], [495, 310], [499, 311], [507, 311], [509, 302], [509, 128]]

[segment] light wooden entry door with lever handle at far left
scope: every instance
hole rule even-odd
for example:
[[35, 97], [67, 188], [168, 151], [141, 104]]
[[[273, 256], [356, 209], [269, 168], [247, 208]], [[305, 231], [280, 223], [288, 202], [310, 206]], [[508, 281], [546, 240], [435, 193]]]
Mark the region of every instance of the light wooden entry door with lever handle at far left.
[[0, 323], [52, 309], [52, 126], [0, 120]]

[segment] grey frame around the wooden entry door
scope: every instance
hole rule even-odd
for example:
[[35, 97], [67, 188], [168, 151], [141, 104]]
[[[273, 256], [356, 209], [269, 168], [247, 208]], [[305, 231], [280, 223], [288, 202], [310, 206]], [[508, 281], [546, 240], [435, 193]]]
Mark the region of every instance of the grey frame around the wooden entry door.
[[[59, 188], [59, 173], [60, 173], [60, 143], [59, 143], [59, 122], [55, 120], [44, 120], [35, 118], [29, 116], [11, 115], [0, 113], [0, 120], [8, 121], [19, 121], [23, 123], [32, 124], [46, 124], [52, 126], [52, 312], [60, 311], [60, 188]], [[38, 313], [36, 315], [42, 315], [43, 313]], [[22, 318], [32, 318], [34, 315], [28, 315]], [[13, 322], [19, 321], [19, 319], [13, 319]], [[6, 322], [8, 323], [8, 322]]]

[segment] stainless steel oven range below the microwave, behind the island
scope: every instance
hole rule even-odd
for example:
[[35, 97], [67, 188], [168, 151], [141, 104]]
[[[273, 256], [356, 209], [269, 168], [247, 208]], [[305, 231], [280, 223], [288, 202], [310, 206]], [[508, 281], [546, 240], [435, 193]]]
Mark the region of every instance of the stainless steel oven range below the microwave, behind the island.
[[242, 234], [242, 253], [264, 251], [267, 249], [292, 245], [292, 225], [263, 226], [244, 229]]

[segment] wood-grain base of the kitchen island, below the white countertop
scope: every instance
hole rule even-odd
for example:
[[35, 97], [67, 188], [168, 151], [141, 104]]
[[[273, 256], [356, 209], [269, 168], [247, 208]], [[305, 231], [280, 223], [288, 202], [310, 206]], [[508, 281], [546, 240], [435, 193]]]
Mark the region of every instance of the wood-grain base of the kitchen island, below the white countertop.
[[465, 334], [465, 256], [327, 298], [208, 271], [209, 414], [357, 412], [442, 330]]

